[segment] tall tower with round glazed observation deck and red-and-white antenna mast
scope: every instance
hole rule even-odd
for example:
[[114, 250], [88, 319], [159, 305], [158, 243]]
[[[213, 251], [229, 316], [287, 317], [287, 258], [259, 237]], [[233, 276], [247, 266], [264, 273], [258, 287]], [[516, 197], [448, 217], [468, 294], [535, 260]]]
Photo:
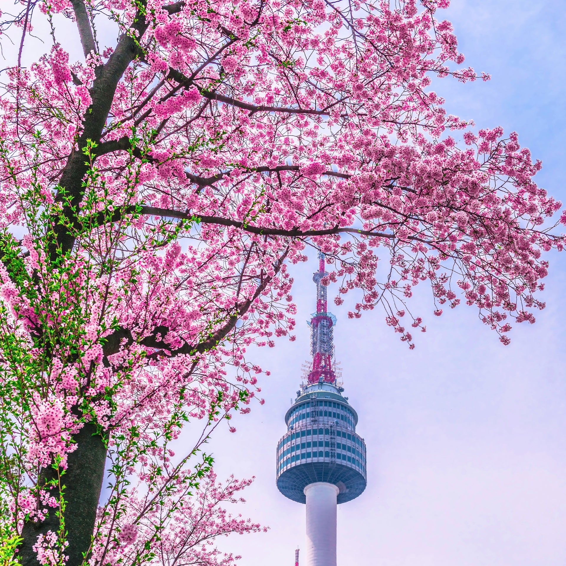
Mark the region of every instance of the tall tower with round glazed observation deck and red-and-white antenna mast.
[[321, 283], [326, 275], [320, 253], [319, 271], [312, 277], [316, 312], [308, 322], [312, 362], [277, 445], [277, 488], [307, 505], [307, 566], [336, 566], [336, 505], [366, 488], [366, 444], [355, 431], [358, 414], [337, 380], [336, 317], [327, 310], [327, 288]]

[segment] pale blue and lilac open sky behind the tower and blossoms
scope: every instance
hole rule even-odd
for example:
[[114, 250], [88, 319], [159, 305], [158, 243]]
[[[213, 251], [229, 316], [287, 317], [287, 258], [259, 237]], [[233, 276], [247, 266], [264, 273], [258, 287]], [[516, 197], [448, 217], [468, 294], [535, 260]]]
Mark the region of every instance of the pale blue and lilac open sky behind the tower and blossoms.
[[[518, 131], [543, 161], [539, 185], [566, 202], [566, 3], [453, 0], [444, 17], [466, 65], [492, 75], [488, 83], [435, 84], [448, 112], [478, 128]], [[367, 490], [338, 507], [340, 566], [566, 564], [566, 256], [549, 259], [547, 308], [535, 325], [514, 327], [510, 346], [473, 308], [432, 316], [426, 289], [414, 306], [428, 332], [413, 351], [383, 313], [353, 321], [347, 304], [333, 308], [345, 395], [368, 451]], [[278, 493], [275, 449], [308, 357], [303, 320], [314, 305], [315, 269], [314, 258], [295, 268], [297, 341], [256, 356], [272, 371], [261, 380], [265, 405], [210, 445], [220, 477], [256, 476], [239, 511], [271, 528], [220, 541], [242, 554], [242, 566], [291, 566], [304, 547], [305, 507]]]

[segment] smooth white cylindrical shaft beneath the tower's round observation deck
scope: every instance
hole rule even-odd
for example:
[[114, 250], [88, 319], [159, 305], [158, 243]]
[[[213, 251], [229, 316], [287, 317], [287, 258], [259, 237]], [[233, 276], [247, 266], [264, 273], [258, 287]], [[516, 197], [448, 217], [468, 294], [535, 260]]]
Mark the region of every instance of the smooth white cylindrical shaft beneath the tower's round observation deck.
[[307, 566], [336, 566], [336, 498], [340, 490], [327, 482], [305, 487], [307, 498]]

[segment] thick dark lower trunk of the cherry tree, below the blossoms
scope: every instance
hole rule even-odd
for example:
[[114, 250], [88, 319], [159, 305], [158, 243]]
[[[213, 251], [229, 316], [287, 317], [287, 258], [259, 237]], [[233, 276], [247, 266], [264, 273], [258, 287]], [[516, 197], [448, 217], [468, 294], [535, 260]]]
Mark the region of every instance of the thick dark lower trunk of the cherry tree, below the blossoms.
[[[68, 455], [67, 470], [61, 477], [61, 483], [65, 486], [65, 529], [69, 543], [65, 551], [69, 557], [67, 566], [82, 564], [83, 555], [91, 544], [106, 462], [106, 447], [96, 432], [95, 424], [85, 423], [75, 436], [75, 441], [77, 448]], [[42, 469], [40, 485], [53, 477], [57, 477], [55, 470]], [[59, 495], [55, 488], [50, 490], [50, 494], [55, 498]], [[24, 540], [16, 555], [22, 566], [38, 566], [37, 554], [32, 546], [37, 542], [38, 535], [45, 535], [48, 530], [58, 531], [59, 519], [55, 511], [49, 508], [49, 516], [45, 521], [25, 523], [22, 531]]]

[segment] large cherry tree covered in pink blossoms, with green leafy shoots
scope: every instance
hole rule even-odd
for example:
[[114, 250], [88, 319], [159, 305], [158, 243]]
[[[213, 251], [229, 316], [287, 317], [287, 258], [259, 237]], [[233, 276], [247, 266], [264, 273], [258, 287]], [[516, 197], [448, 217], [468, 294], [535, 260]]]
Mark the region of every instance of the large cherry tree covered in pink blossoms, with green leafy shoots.
[[[561, 204], [515, 132], [475, 131], [431, 90], [478, 78], [447, 6], [20, 0], [2, 15], [6, 560], [233, 561], [207, 541], [259, 526], [220, 511], [246, 482], [219, 487], [203, 443], [260, 393], [250, 346], [294, 339], [306, 246], [337, 305], [356, 294], [348, 316], [383, 307], [409, 348], [419, 282], [435, 315], [464, 298], [504, 344], [534, 322]], [[198, 439], [175, 456], [187, 423]]]

